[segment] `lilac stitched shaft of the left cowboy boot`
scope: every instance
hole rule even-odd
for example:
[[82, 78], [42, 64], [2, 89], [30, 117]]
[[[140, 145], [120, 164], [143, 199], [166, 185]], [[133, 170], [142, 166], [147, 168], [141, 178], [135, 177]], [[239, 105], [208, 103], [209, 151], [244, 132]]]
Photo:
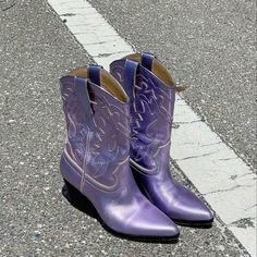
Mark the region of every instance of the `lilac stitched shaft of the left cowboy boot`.
[[72, 75], [61, 78], [61, 95], [68, 131], [64, 157], [94, 184], [113, 189], [113, 173], [118, 168], [125, 171], [122, 164], [126, 167], [128, 160], [127, 100], [118, 99], [85, 77]]

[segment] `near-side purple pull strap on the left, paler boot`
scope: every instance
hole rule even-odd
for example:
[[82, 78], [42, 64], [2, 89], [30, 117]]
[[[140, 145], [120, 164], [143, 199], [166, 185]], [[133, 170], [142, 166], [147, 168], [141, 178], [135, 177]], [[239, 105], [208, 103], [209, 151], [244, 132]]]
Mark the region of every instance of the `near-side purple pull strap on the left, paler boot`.
[[88, 85], [87, 85], [88, 82], [84, 77], [75, 76], [74, 83], [75, 83], [75, 87], [74, 87], [75, 94], [84, 110], [86, 124], [88, 124], [88, 127], [90, 131], [94, 131], [96, 125], [94, 122], [94, 113], [90, 106], [90, 96], [89, 96]]

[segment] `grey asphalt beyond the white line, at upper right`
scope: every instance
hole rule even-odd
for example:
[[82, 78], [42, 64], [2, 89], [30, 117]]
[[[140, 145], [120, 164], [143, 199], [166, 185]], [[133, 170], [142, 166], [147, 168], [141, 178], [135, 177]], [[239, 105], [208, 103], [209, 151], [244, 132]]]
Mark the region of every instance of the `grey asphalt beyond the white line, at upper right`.
[[90, 0], [138, 51], [154, 52], [186, 101], [256, 170], [256, 1]]

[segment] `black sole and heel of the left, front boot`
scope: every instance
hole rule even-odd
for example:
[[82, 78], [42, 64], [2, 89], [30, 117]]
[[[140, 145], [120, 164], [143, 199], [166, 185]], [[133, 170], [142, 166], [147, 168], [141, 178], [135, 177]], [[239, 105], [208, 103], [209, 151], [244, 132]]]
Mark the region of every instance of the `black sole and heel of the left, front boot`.
[[96, 208], [91, 204], [91, 201], [83, 195], [77, 188], [75, 188], [72, 184], [70, 184], [64, 179], [65, 186], [62, 188], [63, 196], [69, 200], [69, 203], [75, 207], [76, 209], [83, 211], [84, 213], [87, 213], [88, 216], [95, 218], [98, 220], [98, 222], [101, 224], [101, 227], [111, 233], [112, 235], [115, 235], [121, 238], [131, 240], [131, 241], [138, 241], [138, 242], [147, 242], [147, 243], [178, 243], [179, 242], [179, 235], [174, 236], [137, 236], [137, 235], [130, 235], [124, 234], [121, 232], [117, 232], [112, 230], [110, 227], [108, 227], [105, 221], [101, 219], [101, 217], [98, 215]]

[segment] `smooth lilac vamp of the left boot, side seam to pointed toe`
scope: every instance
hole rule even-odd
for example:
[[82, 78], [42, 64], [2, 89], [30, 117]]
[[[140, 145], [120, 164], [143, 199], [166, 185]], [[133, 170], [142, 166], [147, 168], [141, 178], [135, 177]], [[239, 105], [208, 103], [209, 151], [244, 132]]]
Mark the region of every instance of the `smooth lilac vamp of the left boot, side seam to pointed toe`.
[[175, 236], [176, 225], [138, 189], [128, 166], [114, 174], [115, 187], [99, 187], [85, 180], [83, 193], [113, 231], [133, 236]]

